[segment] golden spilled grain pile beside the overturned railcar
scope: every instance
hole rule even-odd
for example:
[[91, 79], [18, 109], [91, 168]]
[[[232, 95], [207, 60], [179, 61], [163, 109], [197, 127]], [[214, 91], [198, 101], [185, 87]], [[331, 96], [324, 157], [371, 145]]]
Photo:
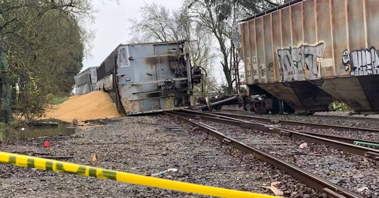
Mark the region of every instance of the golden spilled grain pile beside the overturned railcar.
[[45, 118], [55, 118], [71, 122], [89, 119], [118, 118], [116, 105], [103, 91], [92, 91], [82, 96], [72, 96], [68, 101], [55, 105]]

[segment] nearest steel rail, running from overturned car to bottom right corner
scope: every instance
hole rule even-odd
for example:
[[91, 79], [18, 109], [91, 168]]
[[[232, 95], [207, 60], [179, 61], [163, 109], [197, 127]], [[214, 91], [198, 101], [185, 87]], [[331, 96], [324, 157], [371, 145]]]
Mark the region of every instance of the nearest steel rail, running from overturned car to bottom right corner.
[[[296, 179], [299, 179], [300, 181], [304, 182], [304, 184], [308, 185], [312, 189], [319, 190], [320, 192], [326, 193], [329, 195], [328, 197], [335, 197], [335, 198], [363, 198], [362, 196], [351, 192], [347, 189], [344, 189], [343, 187], [340, 187], [339, 185], [336, 185], [330, 181], [327, 181], [324, 178], [321, 178], [320, 176], [317, 176], [316, 174], [313, 174], [309, 171], [306, 171], [296, 165], [293, 165], [289, 162], [286, 162], [285, 160], [282, 160], [272, 154], [268, 154], [266, 152], [263, 152], [257, 148], [248, 146], [244, 144], [243, 142], [240, 142], [238, 140], [235, 140], [234, 138], [228, 137], [221, 132], [218, 132], [215, 129], [212, 129], [209, 126], [202, 125], [199, 123], [196, 123], [194, 121], [191, 121], [187, 119], [186, 117], [180, 116], [179, 114], [185, 114], [185, 113], [177, 113], [177, 112], [165, 112], [166, 115], [169, 115], [174, 118], [178, 118], [184, 123], [192, 126], [192, 127], [199, 127], [203, 132], [205, 132], [207, 135], [210, 135], [212, 137], [217, 138], [218, 140], [233, 146], [234, 148], [238, 149], [241, 152], [253, 154], [254, 157], [257, 159], [260, 159], [264, 162], [268, 162], [271, 165], [287, 172], [291, 176], [293, 176]], [[188, 116], [192, 116], [191, 114], [186, 114]], [[194, 115], [196, 117], [196, 115]], [[202, 117], [204, 118], [204, 117]], [[222, 119], [223, 120], [223, 119]], [[230, 120], [230, 123], [237, 122], [235, 120]]]

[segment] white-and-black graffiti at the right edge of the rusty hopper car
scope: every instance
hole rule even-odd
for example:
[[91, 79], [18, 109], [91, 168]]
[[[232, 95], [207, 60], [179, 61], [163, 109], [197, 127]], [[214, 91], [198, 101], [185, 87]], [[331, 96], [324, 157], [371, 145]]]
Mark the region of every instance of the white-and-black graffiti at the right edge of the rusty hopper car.
[[342, 53], [342, 64], [352, 76], [377, 74], [379, 68], [379, 50], [375, 47]]

